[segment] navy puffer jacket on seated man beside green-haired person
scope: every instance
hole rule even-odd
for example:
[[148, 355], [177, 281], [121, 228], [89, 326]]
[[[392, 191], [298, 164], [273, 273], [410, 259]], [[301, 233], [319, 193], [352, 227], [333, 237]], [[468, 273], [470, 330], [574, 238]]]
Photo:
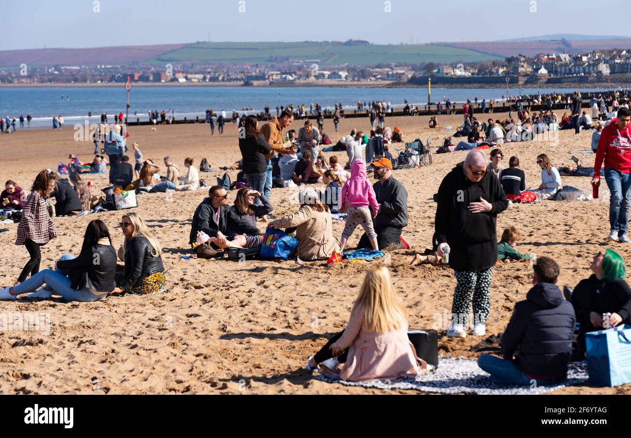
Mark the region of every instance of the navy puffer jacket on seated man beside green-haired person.
[[567, 373], [572, 354], [574, 308], [563, 300], [560, 289], [539, 283], [515, 305], [509, 325], [502, 336], [502, 353], [522, 372], [537, 377], [560, 377]]

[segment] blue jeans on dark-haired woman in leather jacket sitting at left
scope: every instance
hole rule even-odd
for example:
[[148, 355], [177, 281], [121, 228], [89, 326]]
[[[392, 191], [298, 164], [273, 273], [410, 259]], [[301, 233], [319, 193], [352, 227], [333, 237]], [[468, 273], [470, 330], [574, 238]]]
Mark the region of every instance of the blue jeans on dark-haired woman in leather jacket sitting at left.
[[[72, 260], [74, 258], [74, 256], [66, 254], [61, 257], [61, 260]], [[107, 296], [95, 295], [85, 288], [81, 290], [74, 290], [71, 287], [72, 281], [68, 278], [68, 271], [66, 269], [56, 269], [54, 271], [44, 269], [44, 271], [39, 271], [28, 280], [15, 286], [13, 288], [13, 292], [15, 292], [16, 295], [35, 292], [38, 288], [44, 285], [44, 283], [54, 292], [59, 293], [59, 295], [68, 302], [93, 302]]]

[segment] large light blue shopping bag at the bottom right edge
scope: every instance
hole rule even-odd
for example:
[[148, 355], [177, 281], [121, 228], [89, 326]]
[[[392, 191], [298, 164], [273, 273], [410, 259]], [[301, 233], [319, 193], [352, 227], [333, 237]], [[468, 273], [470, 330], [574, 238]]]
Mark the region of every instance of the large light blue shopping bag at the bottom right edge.
[[585, 334], [587, 372], [592, 386], [631, 382], [631, 326]]

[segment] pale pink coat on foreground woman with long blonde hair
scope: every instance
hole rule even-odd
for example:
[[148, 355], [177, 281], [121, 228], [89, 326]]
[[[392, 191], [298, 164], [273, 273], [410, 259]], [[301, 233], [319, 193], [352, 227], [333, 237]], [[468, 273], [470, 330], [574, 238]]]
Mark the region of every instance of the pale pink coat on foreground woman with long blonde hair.
[[408, 324], [388, 333], [369, 332], [363, 327], [363, 307], [351, 314], [344, 334], [333, 345], [339, 350], [349, 348], [339, 374], [345, 381], [395, 381], [413, 378], [420, 372], [408, 339]]

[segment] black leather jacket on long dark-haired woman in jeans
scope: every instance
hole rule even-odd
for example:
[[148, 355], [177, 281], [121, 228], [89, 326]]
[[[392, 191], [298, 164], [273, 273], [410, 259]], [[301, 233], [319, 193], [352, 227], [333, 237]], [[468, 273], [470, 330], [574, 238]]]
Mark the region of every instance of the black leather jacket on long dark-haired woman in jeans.
[[57, 262], [57, 268], [70, 271], [68, 278], [72, 280], [74, 290], [88, 288], [93, 292], [112, 292], [116, 287], [116, 259], [113, 246], [98, 244], [82, 251], [76, 259]]

